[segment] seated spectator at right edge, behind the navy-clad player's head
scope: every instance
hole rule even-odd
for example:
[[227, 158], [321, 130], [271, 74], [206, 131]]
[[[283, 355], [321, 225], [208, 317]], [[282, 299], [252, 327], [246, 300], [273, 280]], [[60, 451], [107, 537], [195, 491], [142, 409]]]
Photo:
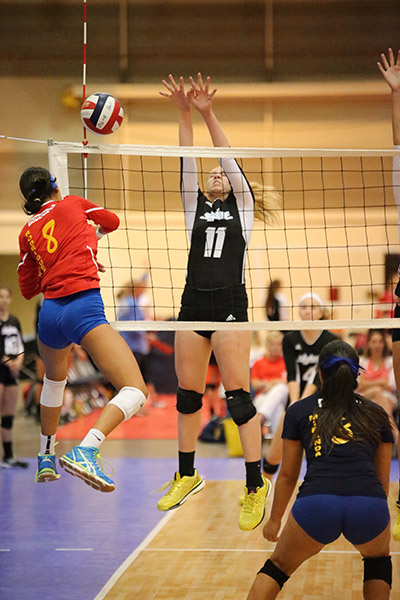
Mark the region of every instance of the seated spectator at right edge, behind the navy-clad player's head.
[[365, 369], [358, 378], [357, 392], [382, 406], [389, 415], [393, 434], [397, 438], [398, 430], [393, 412], [398, 407], [396, 384], [393, 373], [393, 360], [389, 354], [384, 331], [370, 329], [364, 356], [360, 365]]

